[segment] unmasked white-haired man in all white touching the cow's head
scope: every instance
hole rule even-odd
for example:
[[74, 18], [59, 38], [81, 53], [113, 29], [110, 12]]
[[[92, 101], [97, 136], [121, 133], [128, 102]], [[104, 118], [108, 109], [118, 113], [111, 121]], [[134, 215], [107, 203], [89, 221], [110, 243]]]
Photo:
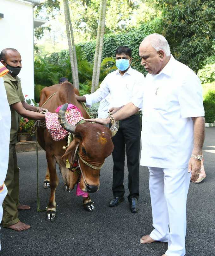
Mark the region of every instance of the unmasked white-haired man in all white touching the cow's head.
[[[170, 54], [165, 37], [151, 34], [139, 47], [148, 71], [143, 94], [140, 164], [148, 166], [154, 230], [140, 242], [168, 242], [163, 256], [184, 256], [186, 202], [191, 181], [200, 173], [204, 142], [202, 87], [197, 75]], [[132, 102], [113, 118], [137, 111]], [[93, 119], [107, 124], [110, 119]]]

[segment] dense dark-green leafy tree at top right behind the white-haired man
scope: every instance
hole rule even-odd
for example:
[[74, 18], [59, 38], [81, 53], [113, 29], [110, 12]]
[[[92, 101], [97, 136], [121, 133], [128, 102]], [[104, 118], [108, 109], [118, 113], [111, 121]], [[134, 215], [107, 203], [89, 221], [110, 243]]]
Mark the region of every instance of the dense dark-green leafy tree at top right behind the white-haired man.
[[166, 37], [173, 56], [194, 72], [215, 54], [215, 1], [158, 0], [163, 8], [157, 32]]

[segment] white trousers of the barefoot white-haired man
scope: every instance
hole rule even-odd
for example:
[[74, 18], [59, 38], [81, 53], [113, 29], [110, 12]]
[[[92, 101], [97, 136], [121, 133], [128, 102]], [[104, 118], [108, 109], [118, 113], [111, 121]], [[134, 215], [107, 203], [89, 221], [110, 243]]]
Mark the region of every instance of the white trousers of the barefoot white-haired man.
[[185, 255], [186, 204], [190, 173], [184, 169], [148, 167], [154, 230], [150, 237], [168, 242], [167, 256]]

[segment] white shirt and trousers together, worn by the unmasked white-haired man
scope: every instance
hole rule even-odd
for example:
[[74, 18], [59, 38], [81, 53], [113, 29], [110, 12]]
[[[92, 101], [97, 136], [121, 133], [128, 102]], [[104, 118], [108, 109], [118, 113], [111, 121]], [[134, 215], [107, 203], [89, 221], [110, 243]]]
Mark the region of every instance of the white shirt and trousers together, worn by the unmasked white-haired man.
[[159, 74], [146, 75], [140, 164], [150, 171], [150, 237], [168, 242], [167, 256], [185, 255], [187, 167], [193, 149], [192, 117], [198, 116], [204, 116], [202, 87], [191, 69], [171, 56]]

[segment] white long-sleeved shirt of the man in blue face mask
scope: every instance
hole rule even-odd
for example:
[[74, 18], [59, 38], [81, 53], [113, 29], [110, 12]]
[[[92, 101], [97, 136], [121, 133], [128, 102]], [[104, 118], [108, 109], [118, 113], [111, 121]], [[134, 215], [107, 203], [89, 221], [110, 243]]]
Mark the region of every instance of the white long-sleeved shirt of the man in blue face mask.
[[86, 106], [100, 102], [110, 93], [110, 108], [121, 107], [132, 102], [136, 107], [142, 108], [144, 75], [131, 67], [124, 75], [119, 69], [108, 74], [101, 82], [100, 88], [86, 97]]

